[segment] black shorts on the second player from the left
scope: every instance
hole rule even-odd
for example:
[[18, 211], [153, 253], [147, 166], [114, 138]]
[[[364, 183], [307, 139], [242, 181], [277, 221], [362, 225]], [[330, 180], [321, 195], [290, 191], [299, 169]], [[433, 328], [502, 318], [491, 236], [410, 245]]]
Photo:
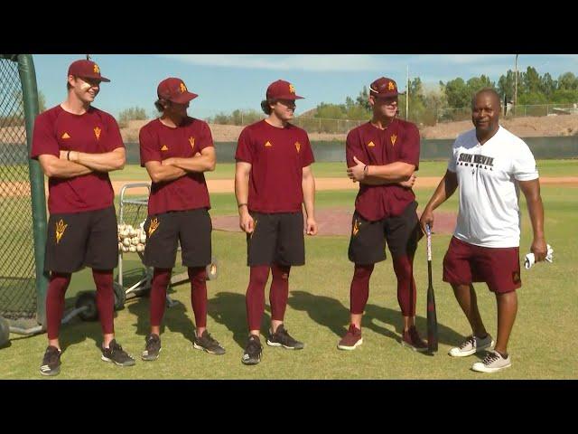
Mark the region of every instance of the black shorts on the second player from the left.
[[149, 215], [144, 222], [144, 265], [172, 269], [177, 259], [177, 242], [181, 241], [182, 265], [206, 267], [210, 264], [212, 229], [206, 208]]

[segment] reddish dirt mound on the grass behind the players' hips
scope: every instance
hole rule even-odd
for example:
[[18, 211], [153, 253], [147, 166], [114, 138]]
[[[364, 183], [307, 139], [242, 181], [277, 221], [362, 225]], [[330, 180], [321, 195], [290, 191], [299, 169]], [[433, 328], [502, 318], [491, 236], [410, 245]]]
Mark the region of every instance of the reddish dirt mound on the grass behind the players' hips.
[[[418, 210], [421, 215], [421, 210]], [[349, 235], [351, 231], [352, 208], [325, 208], [317, 210], [315, 217], [319, 225], [318, 235]], [[434, 233], [452, 233], [455, 229], [456, 214], [454, 212], [435, 212], [433, 222]], [[240, 232], [238, 216], [217, 216], [211, 218], [213, 229], [217, 231]]]

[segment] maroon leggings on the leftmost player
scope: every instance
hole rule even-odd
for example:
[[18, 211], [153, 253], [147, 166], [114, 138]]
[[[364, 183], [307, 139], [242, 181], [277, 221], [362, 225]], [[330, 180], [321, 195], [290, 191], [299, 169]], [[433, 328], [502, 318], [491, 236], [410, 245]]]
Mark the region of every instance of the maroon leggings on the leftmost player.
[[[58, 339], [64, 314], [64, 295], [70, 285], [70, 273], [51, 272], [46, 294], [46, 329], [49, 339]], [[97, 286], [98, 319], [104, 335], [115, 333], [115, 294], [112, 269], [93, 269], [92, 278]]]

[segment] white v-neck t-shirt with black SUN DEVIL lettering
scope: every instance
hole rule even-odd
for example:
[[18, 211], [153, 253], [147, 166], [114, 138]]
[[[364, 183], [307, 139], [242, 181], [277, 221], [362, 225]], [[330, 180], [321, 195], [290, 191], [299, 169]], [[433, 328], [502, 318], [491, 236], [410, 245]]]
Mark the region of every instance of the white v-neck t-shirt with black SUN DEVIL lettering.
[[506, 128], [480, 145], [476, 130], [456, 138], [448, 170], [456, 173], [460, 210], [453, 235], [482, 247], [519, 247], [520, 210], [517, 181], [538, 177], [526, 142]]

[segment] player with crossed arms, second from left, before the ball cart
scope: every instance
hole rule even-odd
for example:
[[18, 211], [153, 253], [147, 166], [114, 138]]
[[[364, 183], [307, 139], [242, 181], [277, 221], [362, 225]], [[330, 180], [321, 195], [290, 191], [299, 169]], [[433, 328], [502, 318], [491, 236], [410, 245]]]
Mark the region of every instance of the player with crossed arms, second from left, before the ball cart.
[[181, 241], [182, 265], [191, 279], [192, 310], [197, 326], [194, 348], [210, 354], [225, 349], [207, 331], [207, 272], [210, 264], [209, 191], [203, 172], [215, 170], [215, 147], [209, 125], [187, 116], [191, 99], [177, 78], [161, 81], [154, 105], [162, 113], [141, 128], [141, 165], [153, 181], [144, 222], [144, 264], [154, 267], [151, 288], [151, 333], [146, 336], [143, 360], [156, 360], [161, 351], [166, 288]]

